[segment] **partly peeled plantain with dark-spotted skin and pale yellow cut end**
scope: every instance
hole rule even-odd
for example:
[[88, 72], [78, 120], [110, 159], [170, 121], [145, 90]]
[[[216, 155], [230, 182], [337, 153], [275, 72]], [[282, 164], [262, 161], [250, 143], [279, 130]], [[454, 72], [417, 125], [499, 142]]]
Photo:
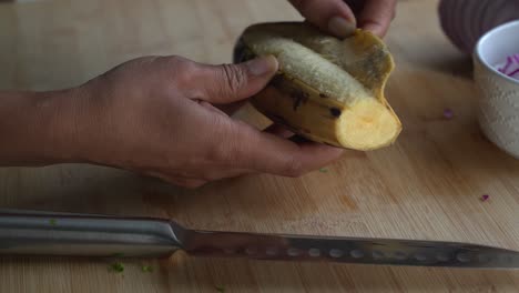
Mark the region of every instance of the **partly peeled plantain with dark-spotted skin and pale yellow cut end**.
[[372, 33], [339, 40], [305, 22], [258, 23], [242, 33], [233, 59], [267, 54], [279, 71], [251, 103], [272, 121], [308, 140], [362, 151], [387, 146], [400, 133], [384, 97], [395, 64]]

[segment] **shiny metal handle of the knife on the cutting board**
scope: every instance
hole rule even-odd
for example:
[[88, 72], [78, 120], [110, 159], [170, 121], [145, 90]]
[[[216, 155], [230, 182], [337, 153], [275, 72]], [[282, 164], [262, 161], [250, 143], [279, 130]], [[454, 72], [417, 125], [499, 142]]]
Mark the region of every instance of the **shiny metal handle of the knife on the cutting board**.
[[1, 212], [0, 254], [68, 256], [167, 256], [181, 244], [160, 219]]

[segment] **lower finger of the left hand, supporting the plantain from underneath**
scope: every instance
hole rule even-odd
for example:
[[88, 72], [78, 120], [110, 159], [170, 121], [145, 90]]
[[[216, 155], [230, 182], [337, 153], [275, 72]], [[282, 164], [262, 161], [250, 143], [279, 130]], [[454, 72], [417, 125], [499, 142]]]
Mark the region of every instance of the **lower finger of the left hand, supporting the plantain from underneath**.
[[236, 122], [227, 148], [243, 169], [298, 176], [337, 160], [343, 150], [319, 143], [297, 144]]

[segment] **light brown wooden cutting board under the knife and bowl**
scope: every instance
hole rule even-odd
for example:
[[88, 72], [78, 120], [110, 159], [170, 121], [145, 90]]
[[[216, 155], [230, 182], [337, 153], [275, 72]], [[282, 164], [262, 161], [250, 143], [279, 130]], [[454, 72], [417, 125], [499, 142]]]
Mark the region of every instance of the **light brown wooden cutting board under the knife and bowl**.
[[[398, 142], [348, 151], [326, 172], [254, 175], [186, 191], [90, 165], [0, 170], [0, 208], [167, 216], [196, 229], [466, 241], [519, 250], [519, 161], [476, 121], [471, 62], [441, 33], [437, 1], [400, 1], [386, 38]], [[0, 88], [80, 84], [128, 59], [231, 60], [250, 23], [301, 19], [282, 0], [71, 0], [0, 4]], [[444, 109], [454, 118], [442, 118]], [[242, 118], [257, 118], [251, 109]], [[4, 141], [6, 142], [6, 141]], [[3, 143], [4, 143], [3, 142]], [[489, 194], [486, 202], [482, 194]], [[154, 271], [141, 271], [150, 264]], [[518, 292], [519, 271], [195, 259], [109, 263], [0, 259], [0, 292]]]

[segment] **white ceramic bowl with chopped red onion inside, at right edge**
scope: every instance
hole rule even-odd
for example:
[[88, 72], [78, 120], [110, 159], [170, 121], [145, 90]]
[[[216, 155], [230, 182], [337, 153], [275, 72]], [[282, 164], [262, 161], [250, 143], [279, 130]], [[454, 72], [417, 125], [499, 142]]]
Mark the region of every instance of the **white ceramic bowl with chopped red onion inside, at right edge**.
[[519, 53], [519, 20], [482, 36], [476, 44], [474, 63], [479, 124], [490, 141], [519, 159], [519, 81], [497, 69], [515, 53]]

